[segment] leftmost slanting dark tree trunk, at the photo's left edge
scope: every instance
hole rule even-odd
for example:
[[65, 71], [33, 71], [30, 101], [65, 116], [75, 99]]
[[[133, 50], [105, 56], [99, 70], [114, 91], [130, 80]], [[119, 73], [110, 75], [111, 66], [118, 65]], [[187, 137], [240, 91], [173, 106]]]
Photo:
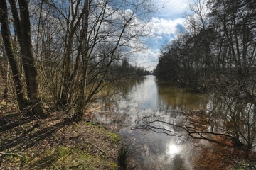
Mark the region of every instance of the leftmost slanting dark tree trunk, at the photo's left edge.
[[1, 35], [4, 41], [6, 55], [8, 57], [9, 64], [11, 66], [11, 72], [13, 74], [12, 78], [14, 80], [14, 86], [16, 89], [16, 99], [18, 101], [18, 108], [20, 109], [20, 111], [23, 111], [23, 109], [27, 106], [27, 100], [24, 92], [25, 90], [21, 82], [21, 74], [18, 71], [16, 55], [11, 42], [11, 33], [9, 29], [6, 0], [0, 1], [0, 22], [1, 22]]

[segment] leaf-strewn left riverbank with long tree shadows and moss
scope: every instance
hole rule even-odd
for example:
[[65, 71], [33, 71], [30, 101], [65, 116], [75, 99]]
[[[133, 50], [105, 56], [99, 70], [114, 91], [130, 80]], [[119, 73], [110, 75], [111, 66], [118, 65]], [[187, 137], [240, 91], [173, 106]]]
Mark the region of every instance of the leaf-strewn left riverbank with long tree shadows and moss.
[[121, 138], [91, 122], [62, 113], [45, 120], [1, 107], [0, 169], [119, 169]]

